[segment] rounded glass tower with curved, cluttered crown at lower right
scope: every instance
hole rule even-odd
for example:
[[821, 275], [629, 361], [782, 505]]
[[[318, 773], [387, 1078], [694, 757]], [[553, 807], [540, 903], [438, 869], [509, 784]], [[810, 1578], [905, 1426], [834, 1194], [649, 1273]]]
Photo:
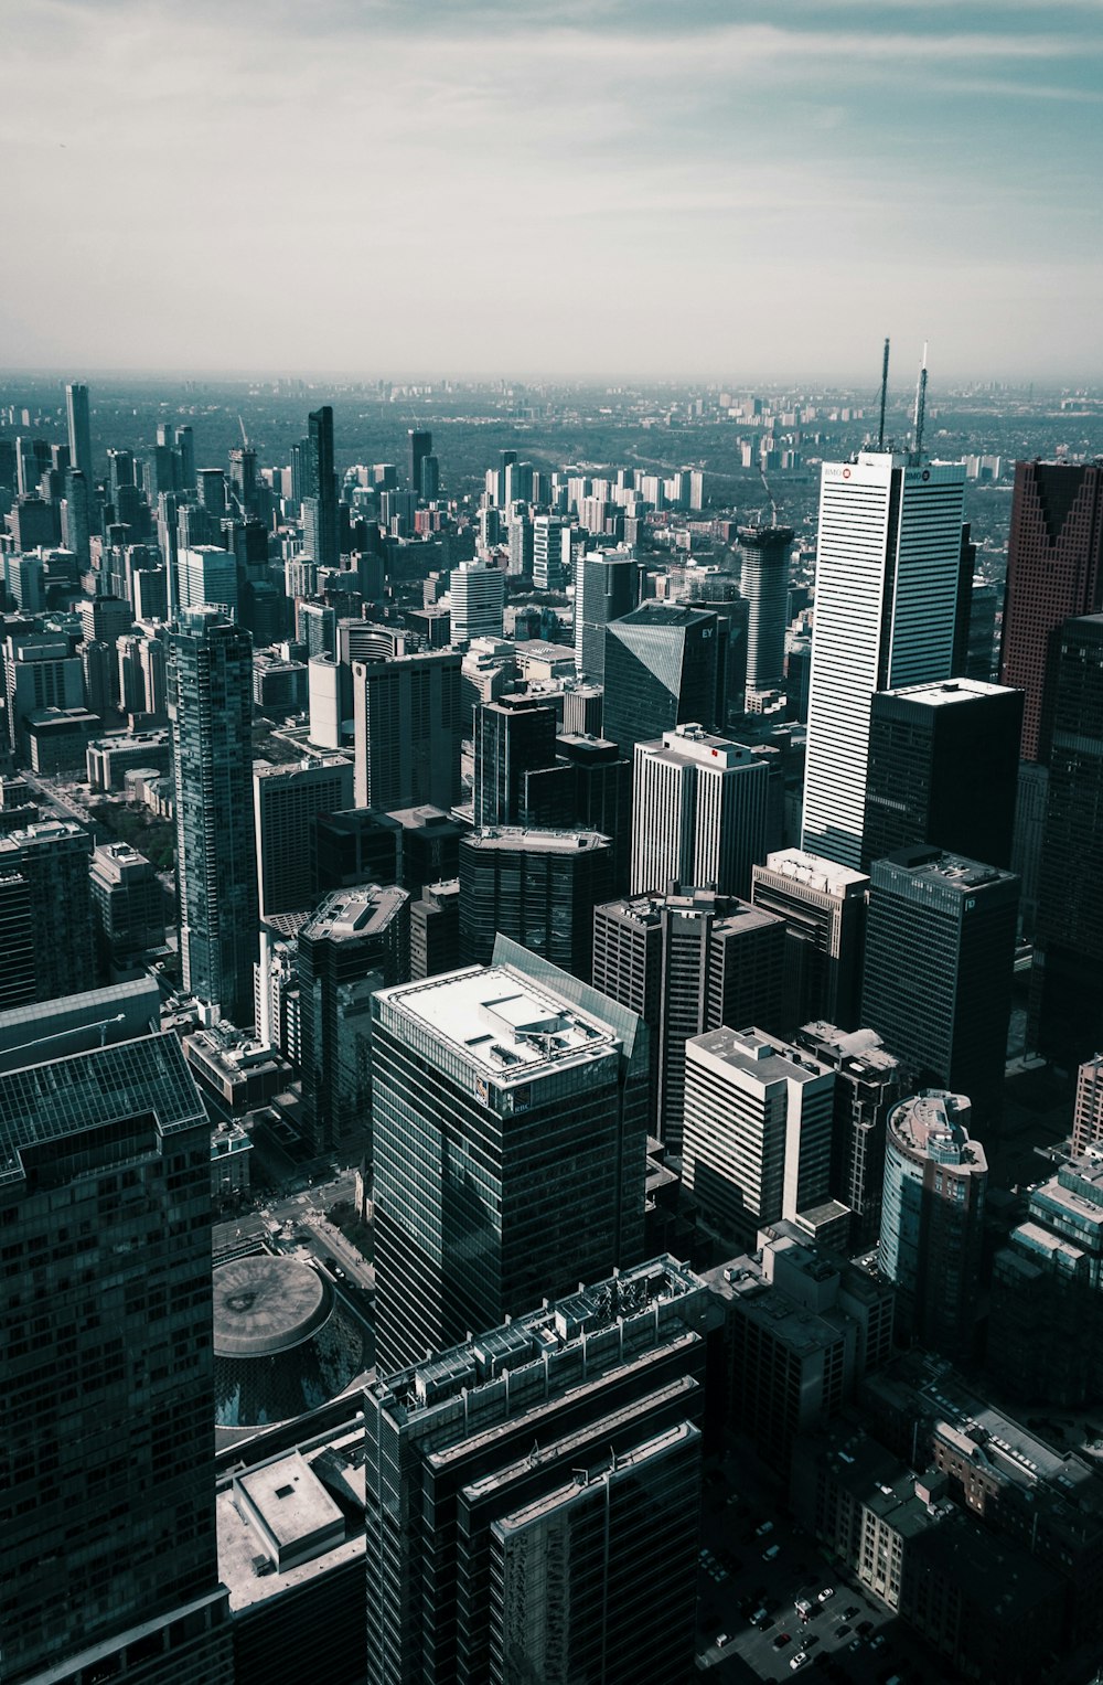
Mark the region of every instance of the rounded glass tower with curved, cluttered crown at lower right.
[[877, 1265], [904, 1336], [956, 1361], [977, 1326], [988, 1161], [962, 1094], [928, 1089], [889, 1112]]

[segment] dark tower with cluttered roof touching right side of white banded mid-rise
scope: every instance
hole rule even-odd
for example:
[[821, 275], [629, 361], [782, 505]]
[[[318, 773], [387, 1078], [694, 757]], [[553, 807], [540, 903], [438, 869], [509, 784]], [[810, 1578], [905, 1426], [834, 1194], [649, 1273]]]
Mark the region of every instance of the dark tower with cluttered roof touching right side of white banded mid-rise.
[[850, 1210], [850, 1250], [867, 1252], [881, 1233], [884, 1132], [904, 1089], [901, 1063], [872, 1030], [815, 1023], [793, 1040], [835, 1072], [830, 1193]]

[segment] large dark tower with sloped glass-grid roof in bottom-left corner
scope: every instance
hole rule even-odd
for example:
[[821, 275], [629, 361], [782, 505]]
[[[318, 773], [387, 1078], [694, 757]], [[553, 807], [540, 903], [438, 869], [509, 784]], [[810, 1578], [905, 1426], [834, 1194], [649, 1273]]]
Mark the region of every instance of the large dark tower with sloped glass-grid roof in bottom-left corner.
[[229, 1685], [210, 1124], [177, 1038], [0, 1075], [0, 1159], [5, 1685]]

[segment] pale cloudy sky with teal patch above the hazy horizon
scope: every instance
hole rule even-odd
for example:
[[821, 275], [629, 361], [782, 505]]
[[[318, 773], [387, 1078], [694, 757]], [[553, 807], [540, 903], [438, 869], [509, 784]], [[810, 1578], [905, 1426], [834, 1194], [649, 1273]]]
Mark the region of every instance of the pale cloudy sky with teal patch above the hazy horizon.
[[0, 367], [1103, 382], [1103, 0], [10, 0], [0, 64]]

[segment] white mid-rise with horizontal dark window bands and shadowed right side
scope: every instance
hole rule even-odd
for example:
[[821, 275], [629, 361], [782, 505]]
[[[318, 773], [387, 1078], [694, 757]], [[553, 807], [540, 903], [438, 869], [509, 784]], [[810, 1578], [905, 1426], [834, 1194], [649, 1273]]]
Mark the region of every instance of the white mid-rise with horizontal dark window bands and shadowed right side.
[[682, 1180], [706, 1220], [746, 1242], [829, 1200], [835, 1073], [761, 1030], [685, 1043]]

